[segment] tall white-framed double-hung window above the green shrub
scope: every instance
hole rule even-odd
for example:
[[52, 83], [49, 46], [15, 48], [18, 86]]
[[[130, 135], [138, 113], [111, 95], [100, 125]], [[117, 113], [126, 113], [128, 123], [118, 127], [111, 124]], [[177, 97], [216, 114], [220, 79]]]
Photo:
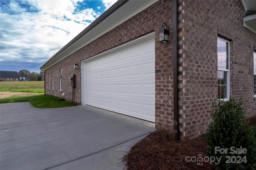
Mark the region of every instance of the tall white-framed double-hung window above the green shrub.
[[218, 37], [218, 98], [229, 100], [230, 96], [230, 42]]

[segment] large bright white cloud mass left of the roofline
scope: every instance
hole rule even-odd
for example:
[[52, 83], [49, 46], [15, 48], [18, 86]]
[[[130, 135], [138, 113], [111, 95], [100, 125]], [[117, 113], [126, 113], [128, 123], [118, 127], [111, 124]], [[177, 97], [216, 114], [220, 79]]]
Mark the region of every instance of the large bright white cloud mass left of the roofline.
[[[78, 1], [73, 0], [74, 3]], [[10, 9], [19, 13], [1, 14], [1, 25], [6, 25], [6, 28], [1, 26], [1, 31], [6, 29], [1, 33], [6, 40], [4, 45], [15, 47], [11, 51], [2, 49], [1, 60], [16, 60], [20, 57], [21, 61], [30, 61], [31, 58], [38, 57], [35, 51], [42, 50], [45, 52], [37, 61], [46, 61], [57, 52], [56, 49], [61, 49], [99, 16], [92, 9], [72, 14], [75, 6], [70, 0], [32, 0], [30, 2], [36, 5], [40, 12], [26, 13], [17, 3], [11, 2]], [[30, 50], [26, 51], [26, 49]], [[55, 51], [49, 51], [49, 49], [55, 49]]]

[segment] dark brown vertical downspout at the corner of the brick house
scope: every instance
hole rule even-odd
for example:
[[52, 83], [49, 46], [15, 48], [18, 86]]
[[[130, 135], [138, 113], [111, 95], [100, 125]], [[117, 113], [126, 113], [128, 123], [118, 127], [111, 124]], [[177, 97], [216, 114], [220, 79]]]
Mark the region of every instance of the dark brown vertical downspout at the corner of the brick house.
[[177, 141], [180, 137], [179, 128], [179, 87], [178, 87], [178, 0], [173, 0], [173, 100], [174, 127], [172, 138]]

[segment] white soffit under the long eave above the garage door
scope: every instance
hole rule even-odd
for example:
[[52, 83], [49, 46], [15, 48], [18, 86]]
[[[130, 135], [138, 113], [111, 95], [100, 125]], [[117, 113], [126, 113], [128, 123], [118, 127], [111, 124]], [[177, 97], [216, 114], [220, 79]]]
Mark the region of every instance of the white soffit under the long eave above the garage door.
[[65, 49], [62, 48], [60, 51], [58, 51], [58, 53], [56, 53], [43, 66], [41, 66], [41, 69], [46, 70], [50, 66], [53, 66], [54, 64], [58, 63], [62, 59], [74, 53], [75, 51], [84, 47], [88, 43], [104, 35], [114, 27], [120, 25], [121, 23], [128, 20], [129, 18], [132, 18], [139, 12], [143, 11], [144, 9], [151, 6], [152, 4], [156, 3], [157, 1], [158, 0], [130, 0], [126, 2], [124, 5], [118, 8], [115, 12], [113, 12], [110, 16], [108, 16], [106, 19], [98, 23], [98, 25], [93, 27], [90, 31], [86, 32], [81, 37], [78, 37], [78, 36], [75, 37], [74, 39], [76, 38], [77, 39], [75, 41], [73, 39], [72, 40], [74, 41], [73, 43], [70, 43], [70, 45], [68, 45], [68, 47], [66, 47]]

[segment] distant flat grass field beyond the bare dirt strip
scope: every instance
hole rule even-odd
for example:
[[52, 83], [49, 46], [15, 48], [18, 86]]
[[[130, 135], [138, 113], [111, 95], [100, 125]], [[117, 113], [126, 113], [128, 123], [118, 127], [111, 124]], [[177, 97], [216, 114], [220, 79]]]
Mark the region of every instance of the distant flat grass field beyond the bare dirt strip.
[[0, 92], [44, 93], [44, 81], [0, 82]]

